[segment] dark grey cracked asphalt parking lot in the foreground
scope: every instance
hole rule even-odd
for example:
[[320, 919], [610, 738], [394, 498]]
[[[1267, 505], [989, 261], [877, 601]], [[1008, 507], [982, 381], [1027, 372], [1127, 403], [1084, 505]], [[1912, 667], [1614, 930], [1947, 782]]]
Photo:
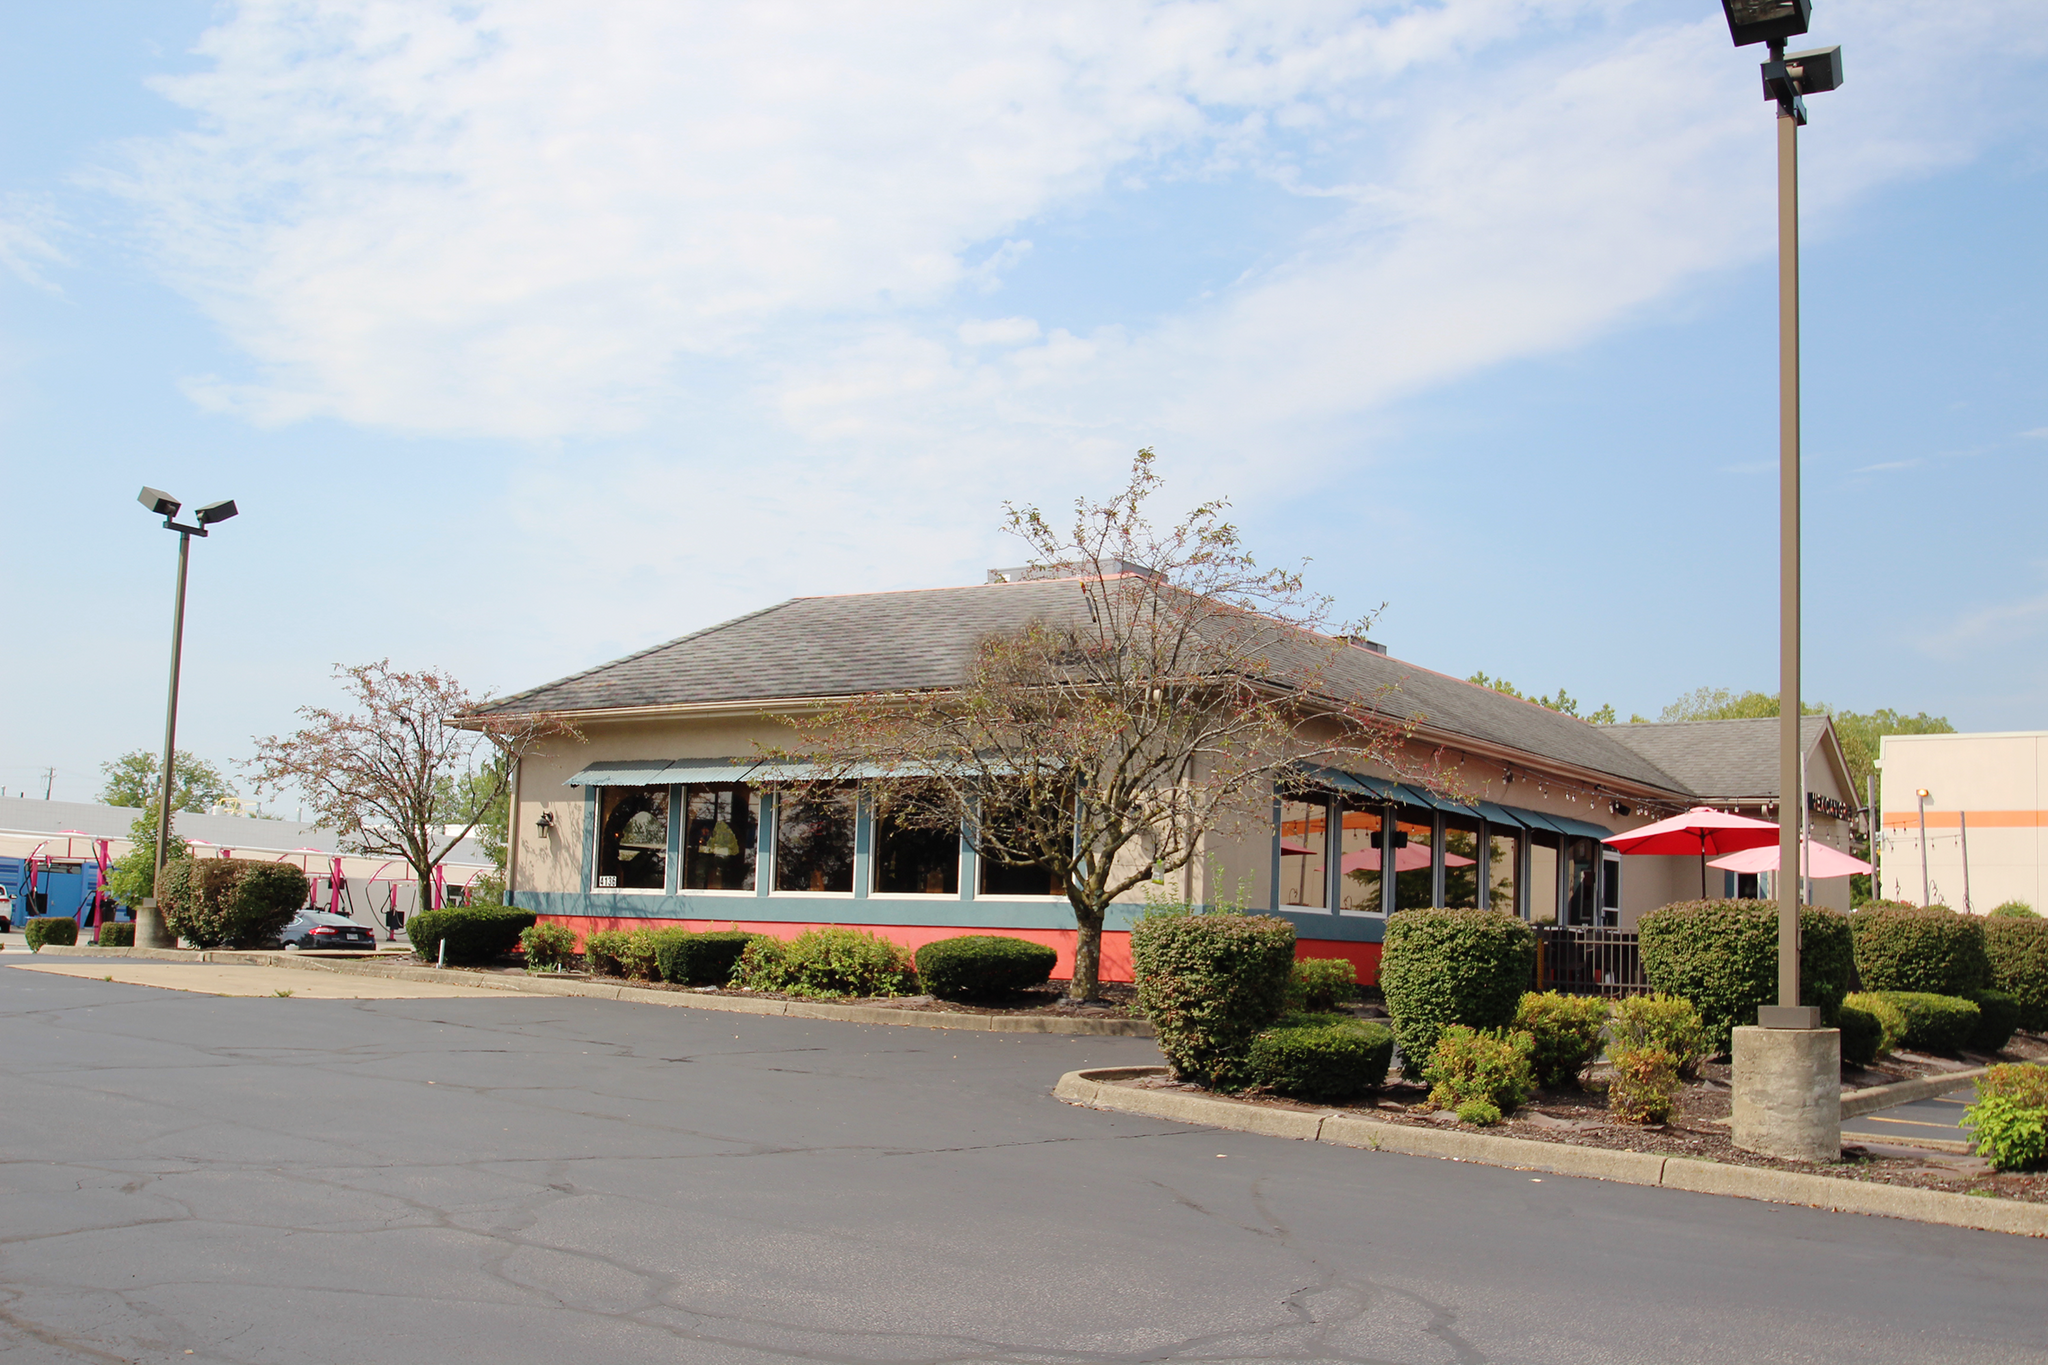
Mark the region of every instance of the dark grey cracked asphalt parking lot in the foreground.
[[0, 970], [0, 1361], [2048, 1361], [2048, 1244], [1051, 1099], [1145, 1040]]

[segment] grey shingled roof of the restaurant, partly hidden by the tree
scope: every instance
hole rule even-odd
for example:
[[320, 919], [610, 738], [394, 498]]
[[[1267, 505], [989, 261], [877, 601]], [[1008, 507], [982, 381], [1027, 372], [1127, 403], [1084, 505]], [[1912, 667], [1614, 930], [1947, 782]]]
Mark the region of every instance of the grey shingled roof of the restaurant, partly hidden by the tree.
[[[840, 598], [791, 598], [559, 681], [500, 698], [489, 712], [602, 712], [717, 702], [829, 698], [952, 688], [975, 647], [1028, 620], [1085, 624], [1075, 579], [1028, 579]], [[1325, 688], [1473, 741], [1692, 796], [1610, 726], [1493, 688], [1343, 649]], [[1393, 688], [1382, 696], [1384, 688]]]

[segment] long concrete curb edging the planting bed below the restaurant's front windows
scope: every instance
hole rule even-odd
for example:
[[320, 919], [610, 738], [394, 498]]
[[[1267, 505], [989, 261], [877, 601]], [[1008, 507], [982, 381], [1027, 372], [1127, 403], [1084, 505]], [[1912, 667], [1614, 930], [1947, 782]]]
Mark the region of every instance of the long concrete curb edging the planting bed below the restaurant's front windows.
[[582, 997], [592, 1001], [627, 1001], [631, 1005], [668, 1005], [672, 1009], [717, 1009], [733, 1015], [782, 1015], [784, 1019], [838, 1019], [842, 1023], [893, 1023], [915, 1029], [965, 1029], [971, 1033], [1073, 1033], [1087, 1038], [1155, 1038], [1145, 1019], [1067, 1019], [1061, 1015], [948, 1015], [885, 1005], [825, 1005], [815, 1001], [752, 1001], [737, 995], [690, 995], [684, 990], [649, 990], [631, 984], [594, 980], [549, 980], [547, 976], [500, 976], [496, 972], [449, 972], [432, 966], [406, 964], [399, 958], [315, 958], [285, 952], [238, 952], [227, 948], [66, 948], [66, 956], [145, 958], [152, 962], [231, 962], [242, 966], [289, 966], [307, 972], [338, 972], [342, 976], [381, 976], [385, 980], [438, 982], [451, 980], [483, 990], [510, 995]]

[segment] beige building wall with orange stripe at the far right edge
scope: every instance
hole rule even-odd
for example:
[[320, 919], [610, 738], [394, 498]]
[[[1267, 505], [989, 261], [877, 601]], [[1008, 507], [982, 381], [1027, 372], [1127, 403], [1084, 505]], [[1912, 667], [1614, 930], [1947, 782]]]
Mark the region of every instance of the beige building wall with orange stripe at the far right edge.
[[2048, 731], [1886, 735], [1880, 741], [1878, 874], [1888, 898], [1919, 902], [1919, 800], [1927, 790], [1925, 894], [1982, 915], [2003, 900], [2048, 909]]

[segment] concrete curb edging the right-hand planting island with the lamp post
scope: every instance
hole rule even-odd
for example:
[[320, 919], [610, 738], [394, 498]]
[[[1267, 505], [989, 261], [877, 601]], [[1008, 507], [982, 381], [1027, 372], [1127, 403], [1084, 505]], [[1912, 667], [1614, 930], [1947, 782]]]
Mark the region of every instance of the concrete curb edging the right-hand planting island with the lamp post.
[[[1329, 1142], [1335, 1146], [1401, 1152], [1405, 1156], [1436, 1156], [1468, 1160], [1481, 1166], [1511, 1171], [1550, 1171], [1622, 1185], [1657, 1185], [1700, 1195], [1733, 1195], [1765, 1203], [1802, 1203], [1835, 1214], [1870, 1214], [1876, 1218], [1907, 1218], [1948, 1228], [1980, 1232], [2011, 1232], [2017, 1236], [2048, 1236], [2048, 1205], [2013, 1199], [1978, 1199], [1944, 1189], [1911, 1189], [1874, 1181], [1843, 1181], [1831, 1175], [1802, 1171], [1763, 1171], [1757, 1166], [1726, 1166], [1690, 1156], [1657, 1156], [1653, 1152], [1612, 1152], [1606, 1148], [1569, 1146], [1563, 1142], [1532, 1142], [1528, 1138], [1495, 1138], [1438, 1128], [1382, 1124], [1358, 1113], [1335, 1109], [1274, 1109], [1223, 1095], [1186, 1095], [1180, 1091], [1133, 1091], [1116, 1085], [1137, 1076], [1165, 1074], [1165, 1066], [1104, 1066], [1069, 1070], [1053, 1087], [1057, 1099], [1090, 1109], [1143, 1113], [1145, 1117], [1229, 1128], [1235, 1132]], [[1905, 1081], [1901, 1085], [1919, 1085]], [[1896, 1089], [1896, 1087], [1878, 1087]], [[1954, 1089], [1954, 1087], [1950, 1087]], [[1868, 1093], [1868, 1091], [1866, 1091]], [[1890, 1101], [1901, 1103], [1901, 1101]]]

